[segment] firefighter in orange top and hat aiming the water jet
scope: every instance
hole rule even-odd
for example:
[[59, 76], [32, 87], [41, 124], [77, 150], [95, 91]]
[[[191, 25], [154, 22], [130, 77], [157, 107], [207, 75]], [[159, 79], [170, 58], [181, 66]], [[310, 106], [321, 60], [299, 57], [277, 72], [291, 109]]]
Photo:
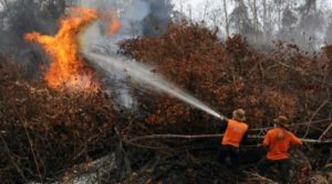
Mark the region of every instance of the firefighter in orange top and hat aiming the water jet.
[[[226, 162], [229, 166], [238, 172], [239, 166], [239, 147], [242, 140], [247, 139], [248, 125], [246, 121], [246, 112], [243, 109], [236, 109], [232, 111], [232, 118], [222, 118], [221, 125], [226, 129], [221, 140], [221, 150], [219, 152], [219, 160]], [[230, 163], [227, 163], [227, 158]]]

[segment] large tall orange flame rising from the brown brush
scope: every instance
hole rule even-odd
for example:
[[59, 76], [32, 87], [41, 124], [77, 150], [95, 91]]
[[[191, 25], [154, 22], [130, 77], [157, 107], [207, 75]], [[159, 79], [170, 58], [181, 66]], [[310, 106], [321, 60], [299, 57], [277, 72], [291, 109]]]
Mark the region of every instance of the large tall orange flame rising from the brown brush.
[[54, 36], [38, 32], [25, 34], [29, 42], [39, 43], [51, 58], [50, 68], [44, 75], [49, 87], [53, 89], [97, 89], [100, 85], [93, 78], [93, 72], [80, 56], [79, 35], [83, 28], [97, 19], [94, 10], [72, 8], [69, 17], [60, 20], [60, 30]]

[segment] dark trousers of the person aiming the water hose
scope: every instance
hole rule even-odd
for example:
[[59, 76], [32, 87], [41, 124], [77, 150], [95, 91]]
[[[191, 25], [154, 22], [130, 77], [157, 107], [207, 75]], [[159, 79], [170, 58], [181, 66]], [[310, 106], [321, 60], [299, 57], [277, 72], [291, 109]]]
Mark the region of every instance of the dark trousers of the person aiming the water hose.
[[[230, 163], [227, 162], [227, 158], [229, 158]], [[228, 166], [231, 166], [235, 171], [238, 171], [239, 159], [239, 148], [236, 148], [234, 145], [221, 145], [218, 155], [219, 162], [226, 163]]]

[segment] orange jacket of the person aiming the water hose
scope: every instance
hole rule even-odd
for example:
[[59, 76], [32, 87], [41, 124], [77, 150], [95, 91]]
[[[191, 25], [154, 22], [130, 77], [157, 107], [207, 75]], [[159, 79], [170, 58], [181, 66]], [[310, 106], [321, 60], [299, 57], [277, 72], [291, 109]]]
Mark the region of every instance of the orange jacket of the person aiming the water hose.
[[248, 130], [248, 125], [229, 119], [227, 122], [227, 129], [225, 131], [221, 144], [234, 145], [239, 148], [240, 142]]

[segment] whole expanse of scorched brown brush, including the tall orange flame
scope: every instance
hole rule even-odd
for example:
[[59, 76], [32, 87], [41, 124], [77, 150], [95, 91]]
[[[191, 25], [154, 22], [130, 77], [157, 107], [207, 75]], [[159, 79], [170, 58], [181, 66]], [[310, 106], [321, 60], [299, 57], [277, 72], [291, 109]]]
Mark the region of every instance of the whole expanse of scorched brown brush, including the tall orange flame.
[[[0, 55], [2, 182], [69, 183], [87, 173], [83, 177], [92, 183], [274, 183], [274, 170], [269, 180], [255, 165], [264, 154], [257, 144], [279, 115], [308, 142], [291, 151], [292, 183], [331, 182], [330, 46], [307, 53], [276, 42], [266, 52], [241, 35], [221, 42], [217, 32], [186, 22], [120, 44], [121, 54], [156, 66], [152, 73], [216, 111], [230, 117], [235, 108], [246, 109], [249, 141], [240, 150], [238, 175], [218, 162], [219, 119], [142, 85], [127, 87], [137, 110], [114, 105], [104, 72], [81, 54], [80, 36], [96, 20], [106, 22], [107, 35], [121, 31], [116, 13], [72, 8], [54, 36], [24, 34], [50, 59], [39, 77], [28, 78], [27, 67]], [[100, 158], [107, 165], [91, 169]]]

